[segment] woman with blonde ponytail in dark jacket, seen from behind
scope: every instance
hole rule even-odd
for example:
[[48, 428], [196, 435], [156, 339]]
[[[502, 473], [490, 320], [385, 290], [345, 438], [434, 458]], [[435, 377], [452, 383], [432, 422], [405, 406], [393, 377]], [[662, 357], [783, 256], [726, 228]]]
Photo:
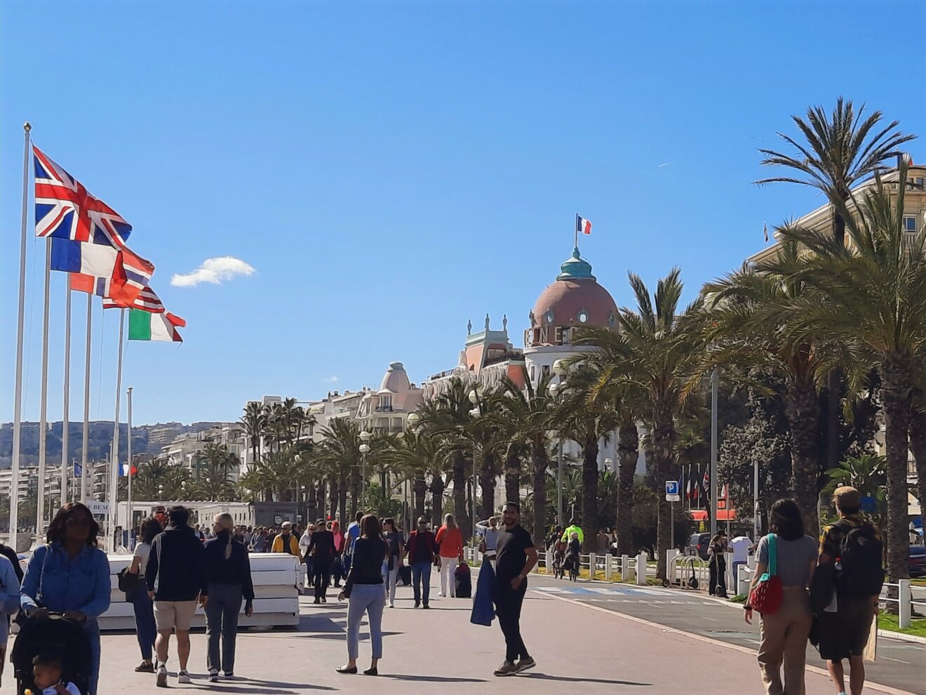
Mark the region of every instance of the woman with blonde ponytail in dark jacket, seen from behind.
[[[206, 666], [209, 680], [219, 680], [219, 668], [226, 678], [234, 676], [234, 645], [238, 636], [238, 613], [244, 600], [244, 614], [254, 614], [254, 584], [251, 562], [244, 543], [234, 537], [231, 514], [217, 514], [212, 527], [215, 537], [206, 541], [206, 638], [209, 649]], [[219, 639], [221, 656], [219, 657]]]

